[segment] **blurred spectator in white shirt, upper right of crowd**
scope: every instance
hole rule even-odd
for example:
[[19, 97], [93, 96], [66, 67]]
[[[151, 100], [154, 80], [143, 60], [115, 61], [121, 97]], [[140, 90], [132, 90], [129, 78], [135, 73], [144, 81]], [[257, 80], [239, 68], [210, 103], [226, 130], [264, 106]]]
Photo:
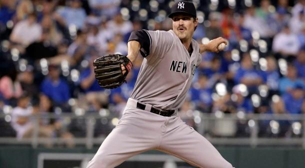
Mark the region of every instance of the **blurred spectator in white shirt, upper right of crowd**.
[[278, 57], [295, 56], [298, 49], [299, 43], [296, 34], [293, 34], [288, 25], [274, 36], [272, 49], [274, 52], [279, 54]]

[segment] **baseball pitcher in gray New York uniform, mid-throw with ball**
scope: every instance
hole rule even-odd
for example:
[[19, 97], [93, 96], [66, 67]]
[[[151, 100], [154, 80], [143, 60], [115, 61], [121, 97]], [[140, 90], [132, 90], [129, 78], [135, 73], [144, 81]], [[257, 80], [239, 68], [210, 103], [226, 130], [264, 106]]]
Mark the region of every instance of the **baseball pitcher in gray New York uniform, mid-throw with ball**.
[[87, 168], [111, 168], [129, 157], [159, 150], [204, 168], [232, 168], [215, 147], [177, 115], [204, 51], [222, 50], [226, 40], [207, 44], [192, 39], [198, 24], [190, 1], [172, 8], [172, 30], [136, 30], [129, 37], [127, 56], [113, 54], [94, 61], [95, 77], [104, 88], [124, 82], [138, 55], [144, 57], [134, 89], [116, 127], [105, 138]]

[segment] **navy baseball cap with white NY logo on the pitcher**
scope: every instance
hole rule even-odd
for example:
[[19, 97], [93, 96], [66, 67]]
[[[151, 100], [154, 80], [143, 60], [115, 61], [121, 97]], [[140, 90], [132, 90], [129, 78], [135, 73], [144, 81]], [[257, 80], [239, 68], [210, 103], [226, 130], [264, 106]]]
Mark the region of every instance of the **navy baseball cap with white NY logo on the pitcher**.
[[191, 1], [180, 0], [171, 6], [171, 13], [168, 17], [172, 17], [175, 13], [186, 13], [197, 17], [195, 5]]

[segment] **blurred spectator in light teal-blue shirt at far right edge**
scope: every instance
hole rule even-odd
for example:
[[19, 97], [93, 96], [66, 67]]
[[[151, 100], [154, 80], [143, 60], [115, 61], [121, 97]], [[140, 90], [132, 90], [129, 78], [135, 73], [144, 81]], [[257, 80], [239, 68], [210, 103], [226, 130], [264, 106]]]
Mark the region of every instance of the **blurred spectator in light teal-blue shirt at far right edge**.
[[288, 64], [285, 76], [279, 80], [279, 91], [282, 94], [285, 92], [290, 92], [291, 89], [297, 84], [303, 85], [304, 82], [300, 78], [297, 78], [297, 72], [294, 65]]

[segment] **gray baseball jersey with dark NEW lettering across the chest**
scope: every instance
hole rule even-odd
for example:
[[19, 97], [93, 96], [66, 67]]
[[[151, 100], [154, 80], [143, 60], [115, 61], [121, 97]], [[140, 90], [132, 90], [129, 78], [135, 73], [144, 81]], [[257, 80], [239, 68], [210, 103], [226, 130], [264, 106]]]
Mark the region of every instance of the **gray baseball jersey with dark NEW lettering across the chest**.
[[172, 30], [146, 31], [149, 55], [143, 60], [131, 98], [158, 108], [179, 108], [201, 61], [199, 44], [192, 39], [188, 51]]

